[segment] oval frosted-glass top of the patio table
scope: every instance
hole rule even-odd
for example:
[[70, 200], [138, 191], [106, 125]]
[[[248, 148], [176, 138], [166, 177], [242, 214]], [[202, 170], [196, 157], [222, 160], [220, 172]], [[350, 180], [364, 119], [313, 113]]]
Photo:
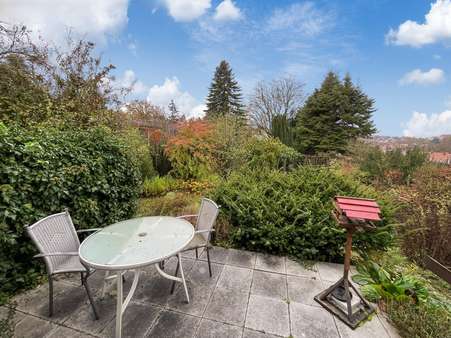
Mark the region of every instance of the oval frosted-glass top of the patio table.
[[155, 216], [114, 223], [80, 245], [82, 263], [95, 269], [127, 270], [157, 263], [180, 252], [194, 227], [175, 217]]

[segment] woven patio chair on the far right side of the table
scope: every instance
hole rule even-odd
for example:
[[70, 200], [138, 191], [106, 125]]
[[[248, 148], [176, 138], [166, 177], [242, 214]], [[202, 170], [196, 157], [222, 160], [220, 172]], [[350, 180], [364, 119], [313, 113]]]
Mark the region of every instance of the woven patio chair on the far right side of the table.
[[[195, 225], [195, 233], [191, 242], [183, 249], [183, 251], [195, 250], [196, 251], [196, 259], [199, 258], [198, 249], [205, 249], [207, 252], [207, 261], [208, 261], [208, 272], [211, 273], [211, 264], [210, 264], [210, 239], [211, 233], [215, 230], [213, 226], [215, 225], [216, 218], [218, 217], [219, 206], [208, 198], [202, 198], [202, 202], [200, 204], [199, 213], [197, 215], [183, 215], [177, 218], [183, 219], [196, 219]], [[179, 270], [180, 262], [177, 262], [177, 267], [175, 269], [175, 275], [177, 276]], [[172, 283], [171, 293], [174, 292], [175, 282]]]

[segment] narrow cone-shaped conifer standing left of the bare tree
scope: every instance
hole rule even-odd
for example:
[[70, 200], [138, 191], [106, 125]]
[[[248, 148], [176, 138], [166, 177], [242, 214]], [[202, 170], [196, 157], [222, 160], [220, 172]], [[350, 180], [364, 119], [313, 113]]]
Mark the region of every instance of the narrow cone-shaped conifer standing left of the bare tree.
[[213, 81], [207, 96], [207, 118], [233, 115], [244, 117], [241, 88], [235, 81], [232, 69], [227, 61], [221, 61], [216, 67]]

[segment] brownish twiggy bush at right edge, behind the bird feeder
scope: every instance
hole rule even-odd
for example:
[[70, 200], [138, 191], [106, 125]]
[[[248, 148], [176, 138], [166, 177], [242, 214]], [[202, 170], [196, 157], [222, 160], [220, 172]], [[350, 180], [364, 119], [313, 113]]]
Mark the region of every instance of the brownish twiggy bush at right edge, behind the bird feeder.
[[420, 265], [430, 255], [451, 266], [451, 169], [424, 167], [399, 195], [403, 252]]

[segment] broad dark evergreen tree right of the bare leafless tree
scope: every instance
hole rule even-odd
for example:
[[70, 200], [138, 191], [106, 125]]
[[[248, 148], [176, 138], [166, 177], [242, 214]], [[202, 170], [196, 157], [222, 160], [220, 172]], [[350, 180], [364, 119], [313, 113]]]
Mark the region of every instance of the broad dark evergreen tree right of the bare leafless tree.
[[349, 75], [340, 81], [329, 72], [298, 112], [296, 146], [306, 154], [344, 153], [349, 141], [375, 133], [374, 111], [374, 100]]

